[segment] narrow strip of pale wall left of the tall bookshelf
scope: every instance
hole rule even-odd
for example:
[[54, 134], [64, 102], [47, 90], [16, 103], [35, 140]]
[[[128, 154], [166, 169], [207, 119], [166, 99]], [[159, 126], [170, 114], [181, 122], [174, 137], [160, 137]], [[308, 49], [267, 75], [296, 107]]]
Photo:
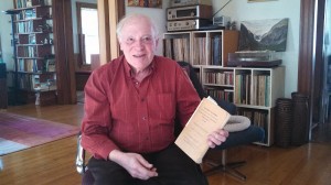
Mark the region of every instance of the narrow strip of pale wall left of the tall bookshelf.
[[13, 1], [0, 0], [0, 36], [2, 59], [7, 63], [7, 69], [13, 69], [13, 48], [11, 46], [11, 15], [3, 13], [2, 11], [13, 9]]

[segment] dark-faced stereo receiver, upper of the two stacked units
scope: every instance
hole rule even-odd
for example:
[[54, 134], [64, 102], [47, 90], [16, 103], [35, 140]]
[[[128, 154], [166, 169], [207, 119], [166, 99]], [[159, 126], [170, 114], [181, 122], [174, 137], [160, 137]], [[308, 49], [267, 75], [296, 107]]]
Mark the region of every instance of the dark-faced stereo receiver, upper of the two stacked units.
[[178, 8], [168, 8], [168, 21], [186, 19], [211, 19], [213, 17], [212, 6], [188, 6]]

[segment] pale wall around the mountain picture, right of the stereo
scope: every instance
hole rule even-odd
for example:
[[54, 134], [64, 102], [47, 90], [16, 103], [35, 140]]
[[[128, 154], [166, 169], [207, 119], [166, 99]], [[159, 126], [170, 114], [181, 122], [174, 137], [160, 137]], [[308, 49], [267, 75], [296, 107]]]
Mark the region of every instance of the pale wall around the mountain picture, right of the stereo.
[[[216, 12], [226, 1], [213, 0], [213, 9]], [[228, 15], [232, 21], [289, 19], [287, 48], [280, 53], [282, 65], [286, 66], [285, 96], [290, 98], [292, 91], [297, 91], [298, 85], [298, 56], [299, 56], [299, 24], [300, 0], [277, 0], [269, 2], [247, 2], [247, 0], [232, 0], [215, 17]]]

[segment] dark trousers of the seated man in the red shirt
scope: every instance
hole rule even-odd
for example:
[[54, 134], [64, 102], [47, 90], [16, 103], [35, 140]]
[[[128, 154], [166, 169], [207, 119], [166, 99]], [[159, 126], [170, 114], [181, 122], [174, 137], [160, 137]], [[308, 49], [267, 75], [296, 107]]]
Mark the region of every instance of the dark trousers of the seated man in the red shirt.
[[88, 168], [96, 185], [207, 185], [200, 166], [174, 144], [142, 156], [157, 167], [159, 176], [147, 181], [134, 178], [117, 163], [94, 157]]

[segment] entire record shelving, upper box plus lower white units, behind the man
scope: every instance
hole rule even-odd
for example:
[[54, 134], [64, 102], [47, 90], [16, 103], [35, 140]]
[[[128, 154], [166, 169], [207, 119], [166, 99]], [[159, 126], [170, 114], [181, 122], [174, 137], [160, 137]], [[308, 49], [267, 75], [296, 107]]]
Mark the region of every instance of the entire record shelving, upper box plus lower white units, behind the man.
[[[174, 45], [177, 40], [181, 44]], [[236, 52], [237, 46], [237, 31], [170, 32], [163, 35], [164, 56], [183, 61], [183, 56], [189, 55], [190, 58], [184, 61], [195, 68], [205, 91], [234, 102], [238, 115], [264, 128], [265, 140], [257, 144], [269, 146], [274, 143], [276, 99], [284, 97], [285, 67], [228, 67], [228, 53]]]

